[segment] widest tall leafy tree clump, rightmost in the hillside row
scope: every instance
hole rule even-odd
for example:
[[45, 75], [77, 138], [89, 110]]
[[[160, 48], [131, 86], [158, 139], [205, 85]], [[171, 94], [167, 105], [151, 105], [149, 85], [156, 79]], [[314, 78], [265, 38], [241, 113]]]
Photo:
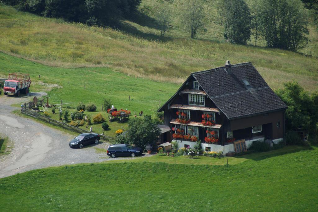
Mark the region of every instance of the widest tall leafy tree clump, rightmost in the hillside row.
[[300, 0], [263, 0], [260, 13], [267, 46], [295, 52], [306, 43], [307, 15]]

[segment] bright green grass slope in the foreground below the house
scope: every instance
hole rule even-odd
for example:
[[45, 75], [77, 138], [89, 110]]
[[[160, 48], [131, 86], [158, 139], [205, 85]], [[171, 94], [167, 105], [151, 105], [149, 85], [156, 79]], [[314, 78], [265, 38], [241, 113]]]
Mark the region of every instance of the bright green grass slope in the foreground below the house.
[[229, 166], [184, 157], [189, 165], [124, 160], [33, 170], [0, 179], [1, 209], [317, 211], [317, 147], [284, 150]]

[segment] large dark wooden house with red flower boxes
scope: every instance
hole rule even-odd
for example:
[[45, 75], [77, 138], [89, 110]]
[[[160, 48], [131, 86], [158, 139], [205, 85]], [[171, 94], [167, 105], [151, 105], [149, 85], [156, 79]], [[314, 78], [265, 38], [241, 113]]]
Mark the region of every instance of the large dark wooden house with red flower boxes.
[[[251, 62], [194, 72], [158, 110], [172, 130], [167, 141], [205, 151], [242, 152], [253, 141], [284, 137], [286, 104]], [[169, 138], [172, 137], [172, 138]]]

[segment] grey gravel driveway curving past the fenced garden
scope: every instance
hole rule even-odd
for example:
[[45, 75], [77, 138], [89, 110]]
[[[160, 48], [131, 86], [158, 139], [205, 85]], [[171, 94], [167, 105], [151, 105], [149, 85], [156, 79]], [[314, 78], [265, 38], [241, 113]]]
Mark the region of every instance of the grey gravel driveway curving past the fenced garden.
[[[48, 166], [132, 159], [112, 159], [108, 158], [106, 152], [97, 153], [95, 147], [107, 149], [107, 142], [71, 149], [68, 142], [73, 138], [72, 135], [11, 113], [12, 110], [17, 110], [11, 104], [30, 100], [30, 96], [0, 96], [0, 134], [8, 136], [14, 142], [11, 153], [0, 157], [0, 178]], [[144, 154], [142, 157], [148, 156], [150, 155]]]

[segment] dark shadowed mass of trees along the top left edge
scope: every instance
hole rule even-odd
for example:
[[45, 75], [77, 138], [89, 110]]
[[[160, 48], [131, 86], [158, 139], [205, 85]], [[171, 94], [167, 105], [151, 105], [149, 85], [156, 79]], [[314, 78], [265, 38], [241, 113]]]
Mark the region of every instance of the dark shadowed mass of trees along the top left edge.
[[110, 25], [118, 16], [130, 16], [141, 0], [2, 0], [19, 10], [63, 18], [88, 25]]

